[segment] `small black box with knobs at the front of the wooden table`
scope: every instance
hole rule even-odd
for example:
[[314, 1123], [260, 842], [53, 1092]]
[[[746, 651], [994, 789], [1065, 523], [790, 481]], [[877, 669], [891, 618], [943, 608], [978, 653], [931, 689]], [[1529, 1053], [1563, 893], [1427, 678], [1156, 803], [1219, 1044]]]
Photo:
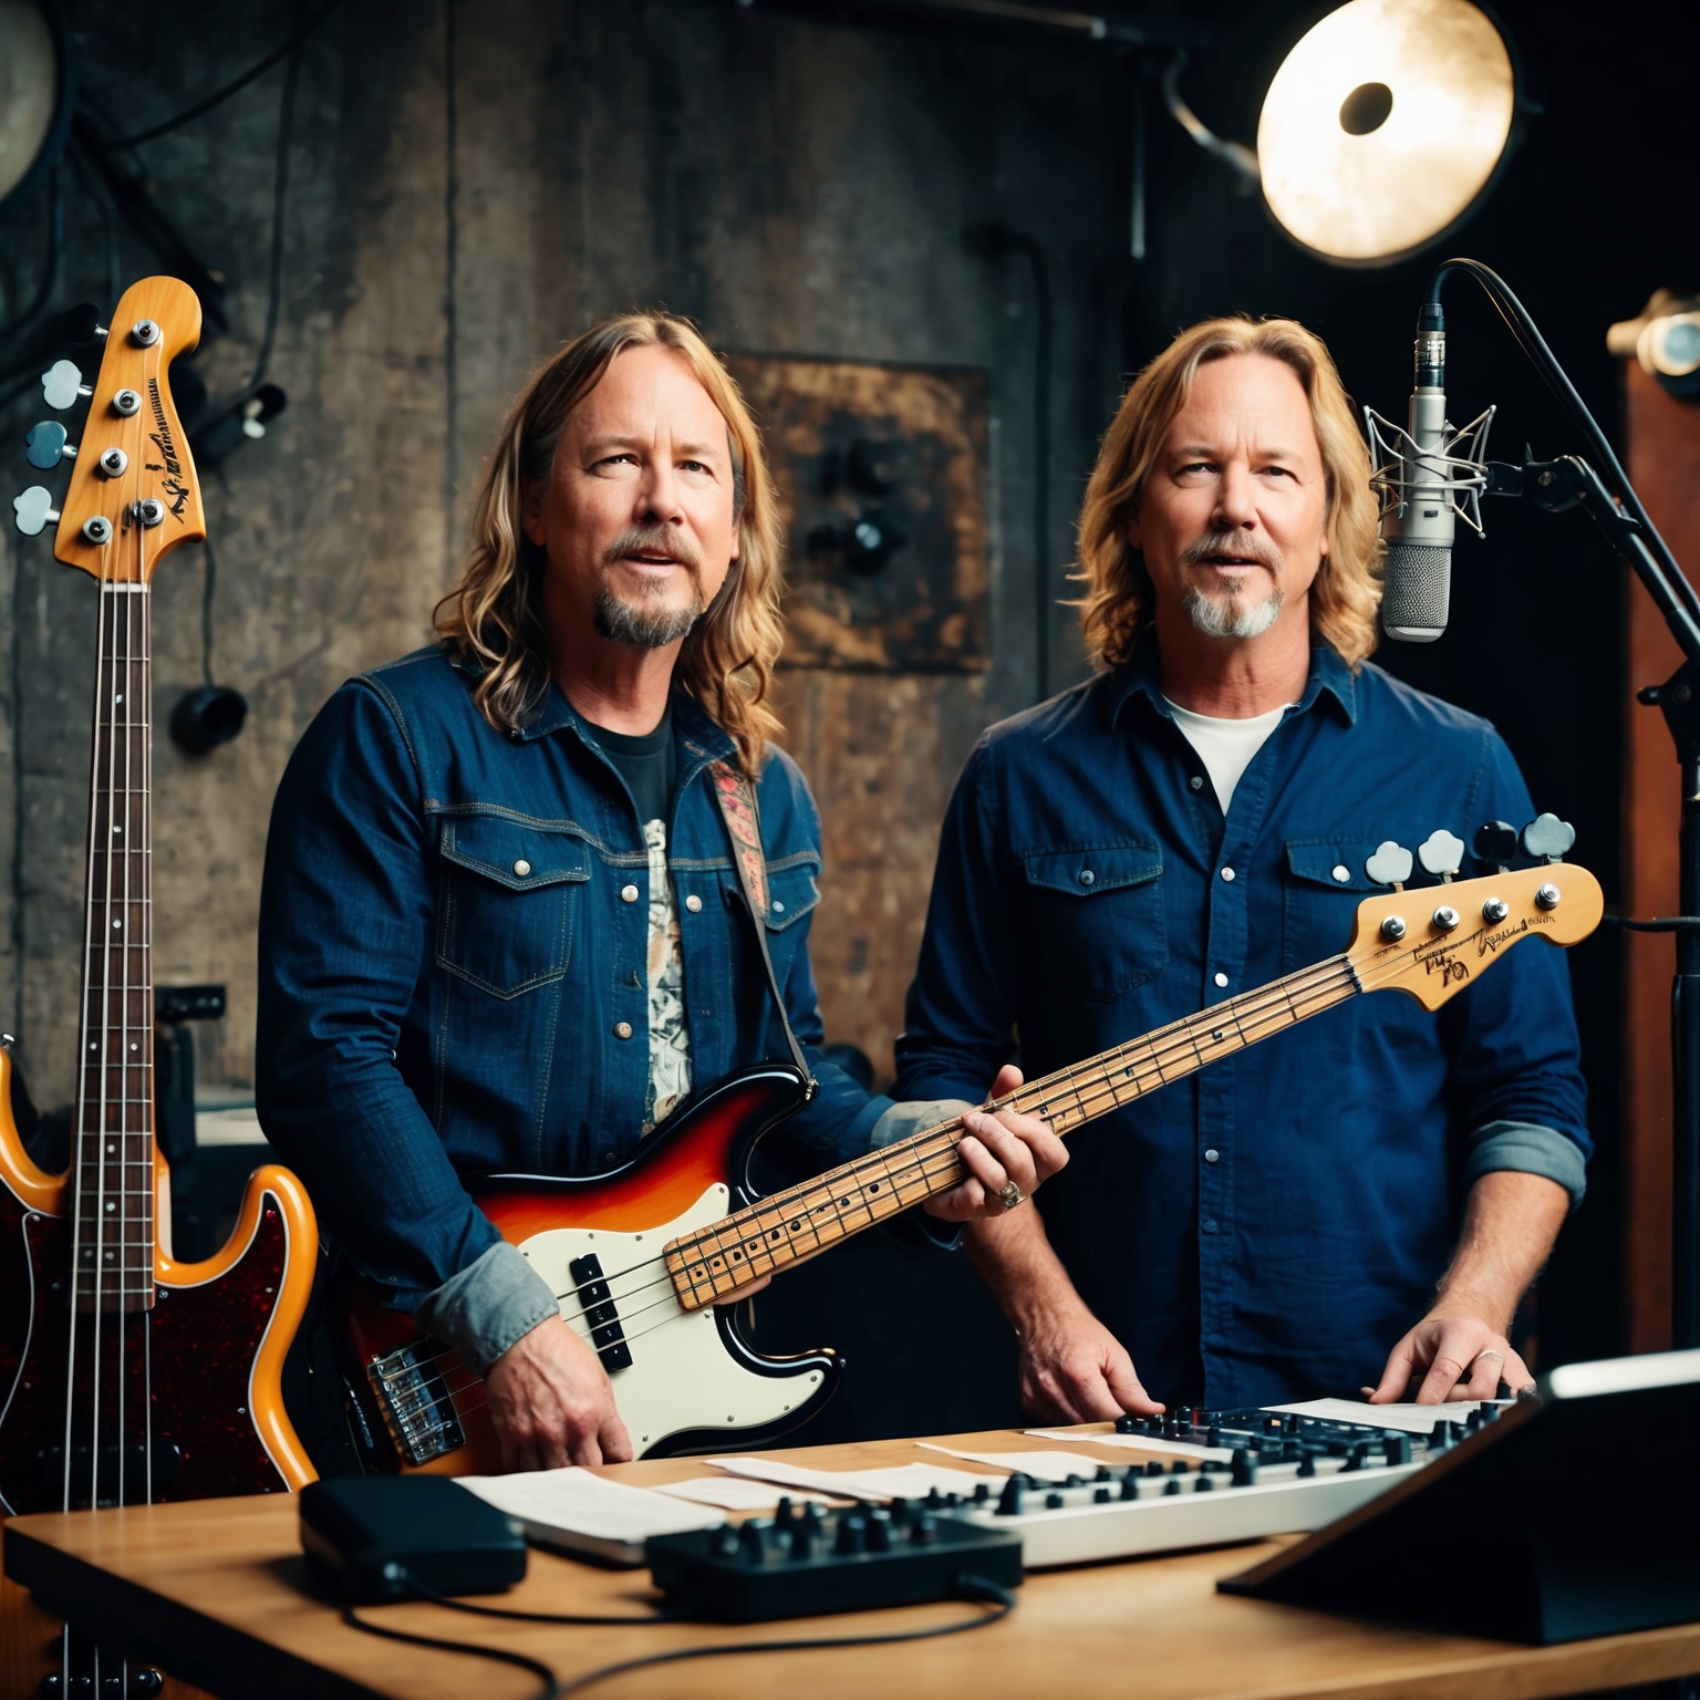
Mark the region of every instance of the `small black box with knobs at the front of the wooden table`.
[[[806, 1532], [804, 1532], [806, 1530]], [[828, 1511], [656, 1535], [649, 1574], [683, 1617], [758, 1624], [930, 1600], [960, 1600], [959, 1578], [1022, 1581], [1022, 1537], [904, 1511]]]

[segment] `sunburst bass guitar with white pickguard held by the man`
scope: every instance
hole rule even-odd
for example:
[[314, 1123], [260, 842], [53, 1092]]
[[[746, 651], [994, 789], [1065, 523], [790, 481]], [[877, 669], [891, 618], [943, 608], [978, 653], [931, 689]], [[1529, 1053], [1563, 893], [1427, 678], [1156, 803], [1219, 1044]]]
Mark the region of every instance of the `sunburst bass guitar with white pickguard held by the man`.
[[[1401, 855], [1408, 872], [1409, 853]], [[993, 1108], [1068, 1134], [1348, 998], [1404, 991], [1438, 1010], [1525, 938], [1586, 938], [1601, 910], [1598, 881], [1576, 864], [1421, 891], [1396, 886], [1358, 904], [1341, 955], [1028, 1081]], [[748, 1445], [813, 1414], [836, 1382], [833, 1353], [763, 1358], [740, 1334], [729, 1300], [962, 1178], [962, 1124], [952, 1120], [758, 1197], [750, 1154], [804, 1102], [801, 1073], [770, 1062], [675, 1110], [615, 1173], [471, 1183], [600, 1355], [639, 1455]], [[384, 1311], [359, 1280], [342, 1295], [342, 1324], [352, 1416], [371, 1467], [500, 1469], [483, 1384], [454, 1352]]]

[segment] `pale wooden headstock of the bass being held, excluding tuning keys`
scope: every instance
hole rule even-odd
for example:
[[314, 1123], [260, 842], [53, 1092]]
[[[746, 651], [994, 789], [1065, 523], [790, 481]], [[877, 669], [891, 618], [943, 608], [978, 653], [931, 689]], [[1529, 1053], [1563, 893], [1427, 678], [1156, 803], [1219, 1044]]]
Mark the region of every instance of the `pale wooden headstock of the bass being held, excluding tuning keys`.
[[1600, 881], [1574, 862], [1408, 887], [1358, 904], [1346, 959], [1365, 991], [1438, 1010], [1523, 938], [1574, 945], [1603, 913]]

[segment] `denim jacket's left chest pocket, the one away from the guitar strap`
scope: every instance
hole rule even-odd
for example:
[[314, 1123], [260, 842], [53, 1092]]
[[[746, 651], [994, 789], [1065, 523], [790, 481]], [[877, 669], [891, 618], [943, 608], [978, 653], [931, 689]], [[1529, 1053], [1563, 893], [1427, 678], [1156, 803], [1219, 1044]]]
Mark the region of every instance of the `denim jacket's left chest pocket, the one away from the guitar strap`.
[[502, 814], [449, 816], [439, 860], [440, 969], [496, 998], [566, 972], [590, 879], [583, 840]]

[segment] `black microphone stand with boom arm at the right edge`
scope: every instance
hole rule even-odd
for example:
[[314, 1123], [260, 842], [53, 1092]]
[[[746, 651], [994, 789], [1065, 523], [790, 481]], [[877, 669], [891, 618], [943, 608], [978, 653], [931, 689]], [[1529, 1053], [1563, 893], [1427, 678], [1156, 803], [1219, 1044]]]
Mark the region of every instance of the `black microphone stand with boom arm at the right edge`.
[[1522, 496], [1545, 513], [1581, 508], [1618, 559], [1647, 586], [1683, 651], [1683, 665], [1663, 685], [1649, 685], [1637, 694], [1637, 700], [1664, 714], [1681, 768], [1681, 913], [1656, 921], [1622, 920], [1618, 925], [1632, 932], [1676, 935], [1676, 981], [1671, 988], [1671, 1345], [1678, 1350], [1700, 1346], [1700, 593], [1647, 517], [1605, 432], [1504, 280], [1477, 260], [1448, 260], [1428, 286], [1428, 306], [1438, 314], [1440, 291], [1452, 272], [1464, 272], [1482, 286], [1518, 347], [1581, 427], [1617, 486], [1613, 495], [1588, 461], [1571, 454], [1523, 466], [1489, 461], [1484, 495]]

